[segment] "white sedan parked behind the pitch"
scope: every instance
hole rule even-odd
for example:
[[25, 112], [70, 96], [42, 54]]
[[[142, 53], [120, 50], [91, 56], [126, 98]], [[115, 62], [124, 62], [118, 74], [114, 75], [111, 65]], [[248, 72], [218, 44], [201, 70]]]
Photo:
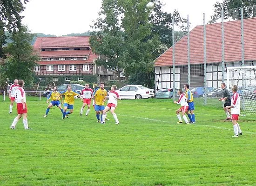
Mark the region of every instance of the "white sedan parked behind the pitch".
[[117, 90], [121, 99], [136, 99], [153, 98], [154, 90], [142, 85], [126, 85]]

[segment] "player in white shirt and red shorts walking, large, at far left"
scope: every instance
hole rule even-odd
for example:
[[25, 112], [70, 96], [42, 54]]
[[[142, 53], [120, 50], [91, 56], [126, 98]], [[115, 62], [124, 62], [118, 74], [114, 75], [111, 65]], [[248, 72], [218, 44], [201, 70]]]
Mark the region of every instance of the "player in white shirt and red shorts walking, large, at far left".
[[27, 105], [26, 105], [26, 93], [23, 89], [24, 81], [19, 80], [18, 81], [19, 88], [15, 91], [15, 101], [17, 103], [17, 113], [18, 116], [14, 118], [13, 123], [11, 125], [11, 129], [15, 129], [16, 124], [20, 120], [20, 118], [23, 116], [23, 124], [25, 129], [31, 129], [27, 125]]

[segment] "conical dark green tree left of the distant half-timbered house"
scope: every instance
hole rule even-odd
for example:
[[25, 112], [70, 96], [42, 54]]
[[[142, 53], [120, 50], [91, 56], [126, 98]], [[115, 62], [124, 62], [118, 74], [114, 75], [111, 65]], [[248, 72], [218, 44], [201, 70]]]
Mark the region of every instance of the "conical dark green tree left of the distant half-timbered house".
[[34, 35], [29, 33], [27, 27], [21, 26], [20, 29], [11, 33], [12, 43], [9, 43], [4, 52], [6, 60], [1, 65], [1, 73], [9, 80], [23, 79], [27, 84], [33, 82], [35, 61], [40, 57], [34, 53], [30, 42]]

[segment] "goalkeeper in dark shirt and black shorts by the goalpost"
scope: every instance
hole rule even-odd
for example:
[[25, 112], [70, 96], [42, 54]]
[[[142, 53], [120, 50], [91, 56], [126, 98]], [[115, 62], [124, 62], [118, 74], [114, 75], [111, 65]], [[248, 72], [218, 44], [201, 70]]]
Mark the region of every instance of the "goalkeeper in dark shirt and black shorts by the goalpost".
[[219, 101], [225, 101], [223, 110], [225, 111], [227, 118], [225, 120], [232, 121], [231, 116], [231, 110], [229, 108], [226, 108], [226, 106], [231, 106], [231, 95], [229, 93], [229, 90], [226, 88], [226, 84], [222, 83], [222, 98], [219, 99]]

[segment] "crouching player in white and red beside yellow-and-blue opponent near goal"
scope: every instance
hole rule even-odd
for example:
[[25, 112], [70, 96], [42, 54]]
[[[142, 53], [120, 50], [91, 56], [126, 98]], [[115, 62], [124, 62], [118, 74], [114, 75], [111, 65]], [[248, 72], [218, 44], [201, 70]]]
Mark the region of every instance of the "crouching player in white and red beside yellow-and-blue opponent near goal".
[[[176, 114], [177, 117], [179, 119], [179, 121], [177, 123], [182, 123], [182, 117], [185, 120], [186, 124], [189, 124], [189, 120], [187, 119], [185, 113], [186, 111], [189, 109], [189, 104], [187, 102], [186, 96], [183, 94], [182, 89], [179, 89], [178, 94], [180, 95], [180, 98], [178, 101], [174, 101], [174, 103], [177, 103], [179, 105], [181, 105], [182, 107], [180, 107], [178, 110], [176, 110]], [[182, 117], [179, 114], [180, 112], [182, 112]]]

